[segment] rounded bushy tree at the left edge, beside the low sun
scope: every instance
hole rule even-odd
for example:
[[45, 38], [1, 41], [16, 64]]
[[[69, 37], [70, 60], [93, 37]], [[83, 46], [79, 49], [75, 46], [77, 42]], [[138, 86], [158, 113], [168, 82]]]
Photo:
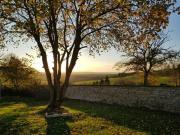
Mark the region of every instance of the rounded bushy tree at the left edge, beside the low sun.
[[2, 59], [0, 72], [2, 77], [5, 78], [6, 81], [9, 81], [17, 90], [23, 82], [30, 79], [33, 70], [27, 59], [20, 59], [11, 54]]

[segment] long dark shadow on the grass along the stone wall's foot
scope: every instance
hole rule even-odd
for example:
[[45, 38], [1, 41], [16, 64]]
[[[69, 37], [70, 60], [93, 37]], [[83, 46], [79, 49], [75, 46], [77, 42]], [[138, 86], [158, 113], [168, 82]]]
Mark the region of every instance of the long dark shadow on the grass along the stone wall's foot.
[[104, 118], [116, 125], [136, 131], [153, 135], [180, 135], [180, 115], [178, 114], [78, 100], [66, 100], [64, 105], [91, 117]]

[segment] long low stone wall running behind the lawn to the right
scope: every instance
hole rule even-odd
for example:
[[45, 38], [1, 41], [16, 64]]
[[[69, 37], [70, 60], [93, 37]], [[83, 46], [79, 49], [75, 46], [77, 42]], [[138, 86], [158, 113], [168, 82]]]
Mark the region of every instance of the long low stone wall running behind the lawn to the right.
[[70, 86], [66, 97], [180, 114], [180, 87]]

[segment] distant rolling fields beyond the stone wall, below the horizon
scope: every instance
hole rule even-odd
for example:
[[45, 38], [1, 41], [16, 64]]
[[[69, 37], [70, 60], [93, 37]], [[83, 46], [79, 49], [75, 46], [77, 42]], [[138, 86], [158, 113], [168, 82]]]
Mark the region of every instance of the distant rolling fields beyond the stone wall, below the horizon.
[[[110, 85], [143, 85], [143, 73], [96, 73], [96, 72], [80, 72], [73, 73], [70, 79], [72, 85], [94, 85], [95, 82], [105, 79], [108, 76]], [[40, 80], [41, 84], [47, 84], [44, 73], [35, 76]], [[64, 78], [64, 75], [63, 75]], [[170, 86], [176, 85], [176, 75], [173, 71], [156, 71], [149, 77], [149, 83], [152, 86], [166, 84]]]

